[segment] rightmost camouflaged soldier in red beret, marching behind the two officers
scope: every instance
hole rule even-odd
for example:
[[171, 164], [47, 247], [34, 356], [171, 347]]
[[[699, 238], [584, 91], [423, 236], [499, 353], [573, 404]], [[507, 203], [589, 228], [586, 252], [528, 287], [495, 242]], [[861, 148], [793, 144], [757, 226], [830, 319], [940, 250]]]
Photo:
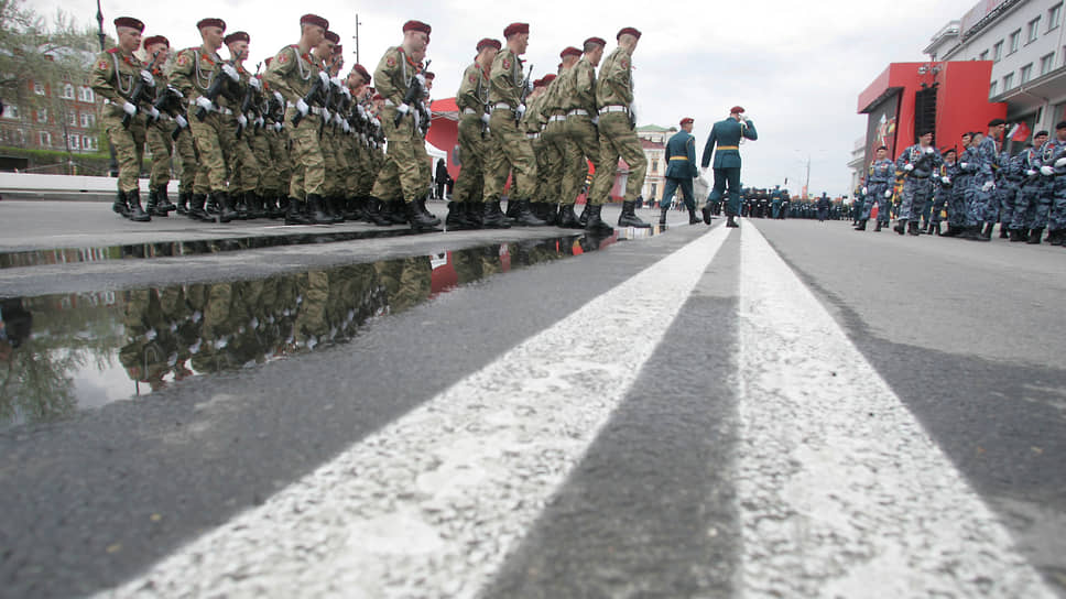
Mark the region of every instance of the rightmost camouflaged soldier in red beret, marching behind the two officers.
[[592, 184], [591, 205], [588, 209], [587, 231], [609, 233], [612, 229], [600, 219], [600, 210], [610, 196], [618, 174], [618, 159], [629, 165], [626, 197], [619, 227], [649, 227], [633, 209], [637, 196], [644, 186], [648, 159], [637, 138], [637, 116], [633, 109], [633, 52], [640, 41], [640, 31], [624, 28], [618, 32], [618, 47], [603, 61], [596, 81], [596, 104], [599, 106], [600, 165]]

